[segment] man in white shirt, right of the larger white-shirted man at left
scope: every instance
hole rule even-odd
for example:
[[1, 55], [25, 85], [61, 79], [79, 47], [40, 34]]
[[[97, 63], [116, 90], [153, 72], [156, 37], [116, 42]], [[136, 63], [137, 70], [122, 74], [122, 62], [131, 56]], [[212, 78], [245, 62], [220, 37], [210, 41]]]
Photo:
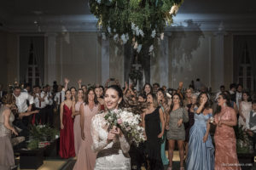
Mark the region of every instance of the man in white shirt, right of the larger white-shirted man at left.
[[36, 114], [36, 123], [37, 124], [45, 124], [45, 115], [46, 115], [46, 106], [49, 105], [49, 99], [47, 98], [47, 93], [44, 91], [41, 92], [41, 88], [39, 86], [36, 86], [36, 94], [34, 97], [34, 103], [36, 110], [39, 111], [38, 114]]

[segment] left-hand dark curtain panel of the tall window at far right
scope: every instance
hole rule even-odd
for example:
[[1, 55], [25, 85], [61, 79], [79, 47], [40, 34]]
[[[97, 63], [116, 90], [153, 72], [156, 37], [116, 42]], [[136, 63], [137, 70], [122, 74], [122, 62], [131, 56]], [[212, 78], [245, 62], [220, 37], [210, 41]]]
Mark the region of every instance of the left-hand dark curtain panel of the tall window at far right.
[[238, 82], [239, 66], [243, 56], [243, 49], [246, 44], [246, 37], [234, 36], [233, 39], [233, 56], [234, 56], [234, 82]]

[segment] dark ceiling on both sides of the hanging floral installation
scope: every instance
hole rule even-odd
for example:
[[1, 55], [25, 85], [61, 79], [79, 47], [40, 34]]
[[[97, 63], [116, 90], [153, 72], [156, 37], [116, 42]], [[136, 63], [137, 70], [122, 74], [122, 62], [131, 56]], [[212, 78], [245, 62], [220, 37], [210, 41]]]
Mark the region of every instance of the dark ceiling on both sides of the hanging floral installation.
[[[182, 14], [228, 14], [256, 18], [256, 0], [184, 0], [177, 17]], [[88, 0], [0, 0], [0, 26], [33, 24], [35, 20], [50, 23], [51, 20], [79, 20], [90, 15]], [[80, 17], [80, 19], [78, 18]]]

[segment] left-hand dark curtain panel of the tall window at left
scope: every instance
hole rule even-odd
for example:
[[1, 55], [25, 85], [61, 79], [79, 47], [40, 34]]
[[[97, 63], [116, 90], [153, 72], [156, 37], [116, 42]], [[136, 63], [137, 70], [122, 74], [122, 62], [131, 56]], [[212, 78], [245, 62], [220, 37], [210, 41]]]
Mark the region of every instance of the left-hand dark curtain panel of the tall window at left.
[[31, 43], [31, 37], [20, 37], [20, 82], [26, 82]]

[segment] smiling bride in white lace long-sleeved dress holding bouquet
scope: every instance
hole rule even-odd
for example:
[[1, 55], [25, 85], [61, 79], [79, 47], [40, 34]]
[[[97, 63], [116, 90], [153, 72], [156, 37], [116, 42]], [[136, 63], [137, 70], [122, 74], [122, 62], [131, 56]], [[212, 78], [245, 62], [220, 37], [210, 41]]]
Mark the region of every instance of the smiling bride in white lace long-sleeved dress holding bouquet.
[[[105, 94], [108, 111], [118, 109], [123, 99], [123, 92], [117, 85], [110, 86]], [[92, 118], [90, 133], [92, 150], [97, 152], [95, 170], [130, 170], [131, 160], [128, 154], [130, 144], [119, 127], [108, 129], [104, 118], [107, 112]]]

